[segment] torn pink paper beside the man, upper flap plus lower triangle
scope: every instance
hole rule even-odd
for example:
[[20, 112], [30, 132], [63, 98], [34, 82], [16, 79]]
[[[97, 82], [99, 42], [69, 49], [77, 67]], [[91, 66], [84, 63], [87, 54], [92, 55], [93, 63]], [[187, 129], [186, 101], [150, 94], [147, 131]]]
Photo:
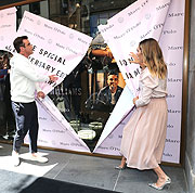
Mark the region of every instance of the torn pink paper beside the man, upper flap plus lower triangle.
[[[58, 76], [56, 83], [40, 83], [44, 93], [49, 93], [62, 82], [79, 64], [92, 40], [84, 34], [29, 12], [24, 13], [17, 36], [28, 36], [35, 48], [29, 61], [38, 73]], [[40, 116], [38, 145], [90, 152], [49, 98], [42, 102], [38, 101], [38, 108]], [[27, 138], [25, 142], [28, 142]]]

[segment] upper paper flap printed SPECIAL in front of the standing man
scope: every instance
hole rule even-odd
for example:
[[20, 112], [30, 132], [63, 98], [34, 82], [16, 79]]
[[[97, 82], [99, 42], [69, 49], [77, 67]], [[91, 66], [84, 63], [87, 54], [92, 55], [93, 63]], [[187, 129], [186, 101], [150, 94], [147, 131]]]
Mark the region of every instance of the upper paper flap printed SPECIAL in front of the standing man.
[[47, 18], [25, 12], [17, 36], [28, 36], [35, 47], [30, 62], [40, 74], [57, 75], [56, 83], [40, 83], [44, 93], [56, 85], [79, 64], [92, 38]]

